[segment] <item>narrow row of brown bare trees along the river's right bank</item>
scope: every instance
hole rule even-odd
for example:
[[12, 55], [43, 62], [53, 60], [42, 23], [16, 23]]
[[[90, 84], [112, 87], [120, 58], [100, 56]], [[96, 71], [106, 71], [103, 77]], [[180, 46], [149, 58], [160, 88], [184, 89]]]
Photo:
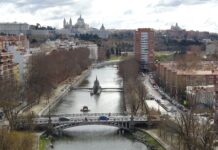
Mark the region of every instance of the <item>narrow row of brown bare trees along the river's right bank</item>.
[[143, 112], [147, 91], [139, 76], [139, 63], [134, 57], [119, 63], [119, 75], [123, 78], [126, 107], [132, 114]]

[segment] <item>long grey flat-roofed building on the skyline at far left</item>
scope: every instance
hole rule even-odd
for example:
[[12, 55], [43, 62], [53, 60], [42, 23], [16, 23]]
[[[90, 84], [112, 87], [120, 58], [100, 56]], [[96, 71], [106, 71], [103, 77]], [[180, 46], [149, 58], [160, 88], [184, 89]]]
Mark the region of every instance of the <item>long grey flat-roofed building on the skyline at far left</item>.
[[27, 23], [0, 23], [0, 33], [2, 34], [28, 34], [29, 25]]

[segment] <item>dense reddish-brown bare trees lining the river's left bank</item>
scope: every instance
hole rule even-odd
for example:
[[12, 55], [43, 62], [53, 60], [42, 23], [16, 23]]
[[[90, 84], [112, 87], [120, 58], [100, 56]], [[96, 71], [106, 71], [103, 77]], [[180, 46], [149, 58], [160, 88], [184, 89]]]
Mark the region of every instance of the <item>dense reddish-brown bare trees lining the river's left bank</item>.
[[75, 77], [90, 65], [89, 50], [56, 50], [50, 54], [39, 53], [29, 60], [26, 74], [26, 91], [29, 100], [47, 98], [59, 83], [69, 77]]

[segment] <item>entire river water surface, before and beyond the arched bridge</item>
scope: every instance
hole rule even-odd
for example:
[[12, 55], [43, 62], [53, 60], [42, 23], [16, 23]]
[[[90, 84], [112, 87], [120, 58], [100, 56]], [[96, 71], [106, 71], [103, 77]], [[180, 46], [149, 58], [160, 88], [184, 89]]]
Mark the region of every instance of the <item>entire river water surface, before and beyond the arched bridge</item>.
[[[119, 88], [122, 85], [116, 66], [107, 66], [93, 69], [81, 86], [92, 87], [96, 77], [102, 88]], [[91, 96], [87, 90], [71, 91], [53, 114], [81, 113], [84, 105], [88, 106], [90, 113], [120, 113], [123, 112], [122, 98], [122, 92], [102, 92], [100, 96]], [[64, 132], [71, 138], [56, 140], [54, 150], [147, 150], [146, 145], [117, 134], [117, 130], [100, 125], [69, 128]]]

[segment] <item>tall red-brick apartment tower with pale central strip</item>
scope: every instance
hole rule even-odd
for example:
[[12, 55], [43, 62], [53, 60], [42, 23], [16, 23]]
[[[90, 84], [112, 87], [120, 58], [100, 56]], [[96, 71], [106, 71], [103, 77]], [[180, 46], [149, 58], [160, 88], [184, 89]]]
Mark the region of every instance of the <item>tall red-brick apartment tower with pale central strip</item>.
[[139, 28], [134, 35], [134, 52], [142, 70], [149, 70], [154, 57], [154, 31]]

